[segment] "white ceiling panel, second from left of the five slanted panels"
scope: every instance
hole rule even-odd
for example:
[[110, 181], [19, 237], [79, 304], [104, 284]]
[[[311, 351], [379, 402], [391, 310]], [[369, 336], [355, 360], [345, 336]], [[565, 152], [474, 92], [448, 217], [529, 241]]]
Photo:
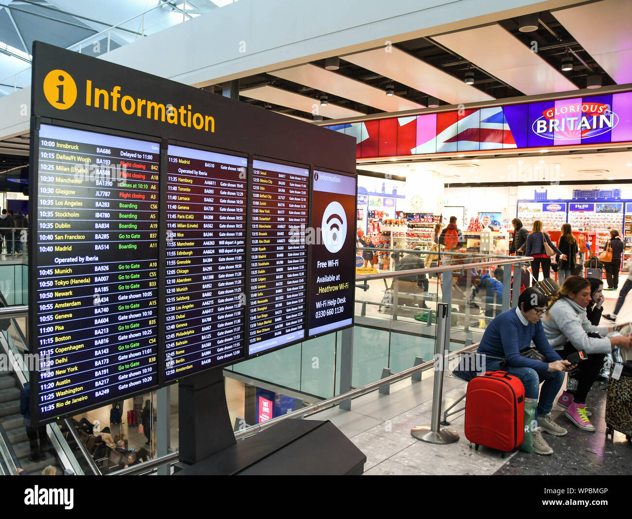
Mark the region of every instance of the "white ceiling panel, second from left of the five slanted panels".
[[358, 103], [372, 106], [385, 112], [415, 110], [425, 108], [424, 105], [409, 101], [397, 95], [386, 95], [382, 88], [370, 86], [362, 81], [336, 74], [330, 70], [317, 67], [311, 63], [269, 72], [271, 76], [294, 81], [299, 85], [310, 86], [322, 92], [339, 95]]

